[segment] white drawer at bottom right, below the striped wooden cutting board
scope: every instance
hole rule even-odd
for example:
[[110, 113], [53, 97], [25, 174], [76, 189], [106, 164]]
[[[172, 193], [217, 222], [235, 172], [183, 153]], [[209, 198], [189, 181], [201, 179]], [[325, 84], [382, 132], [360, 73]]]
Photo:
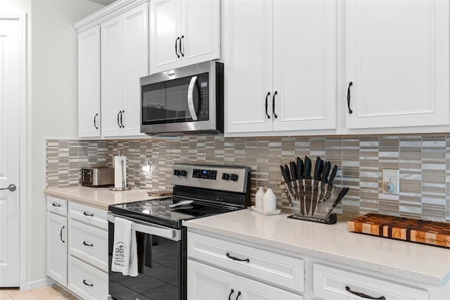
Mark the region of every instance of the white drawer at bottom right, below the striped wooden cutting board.
[[384, 296], [386, 300], [429, 299], [428, 291], [396, 282], [380, 280], [358, 273], [314, 263], [314, 296], [323, 299], [361, 299], [349, 291], [363, 293], [374, 298]]

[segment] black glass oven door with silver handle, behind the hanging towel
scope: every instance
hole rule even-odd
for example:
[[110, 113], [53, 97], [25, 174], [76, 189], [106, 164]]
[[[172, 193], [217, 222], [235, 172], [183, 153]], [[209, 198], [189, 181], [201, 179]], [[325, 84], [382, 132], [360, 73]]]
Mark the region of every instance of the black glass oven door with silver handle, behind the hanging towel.
[[[133, 222], [138, 276], [111, 271], [115, 218]], [[163, 227], [108, 212], [109, 299], [186, 299], [186, 228]]]

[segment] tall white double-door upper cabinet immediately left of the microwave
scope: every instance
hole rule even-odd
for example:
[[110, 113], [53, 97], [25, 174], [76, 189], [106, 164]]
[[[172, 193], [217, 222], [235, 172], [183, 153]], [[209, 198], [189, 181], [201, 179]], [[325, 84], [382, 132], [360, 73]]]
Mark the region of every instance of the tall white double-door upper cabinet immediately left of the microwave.
[[102, 135], [140, 133], [139, 78], [148, 75], [148, 5], [101, 25]]

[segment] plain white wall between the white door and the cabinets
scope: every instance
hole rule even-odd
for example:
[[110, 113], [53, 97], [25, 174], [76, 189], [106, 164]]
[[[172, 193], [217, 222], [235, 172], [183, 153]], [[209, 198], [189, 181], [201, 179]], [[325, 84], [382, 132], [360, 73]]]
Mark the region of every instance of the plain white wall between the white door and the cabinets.
[[[0, 13], [27, 13], [27, 274], [46, 279], [44, 137], [77, 137], [77, 35], [72, 23], [103, 8], [86, 0], [1, 0]], [[22, 269], [22, 268], [21, 268]]]

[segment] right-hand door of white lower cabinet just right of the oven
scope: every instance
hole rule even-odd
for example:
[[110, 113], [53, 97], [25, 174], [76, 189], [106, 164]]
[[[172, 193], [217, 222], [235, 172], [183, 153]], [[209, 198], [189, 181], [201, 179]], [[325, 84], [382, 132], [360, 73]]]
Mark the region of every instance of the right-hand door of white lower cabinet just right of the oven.
[[[243, 300], [302, 300], [303, 297], [287, 292], [277, 287], [271, 287], [262, 282], [250, 280], [246, 277], [238, 277], [237, 280], [243, 287], [238, 289], [242, 293]], [[237, 296], [237, 294], [236, 294]], [[237, 298], [236, 298], [237, 299]]]

